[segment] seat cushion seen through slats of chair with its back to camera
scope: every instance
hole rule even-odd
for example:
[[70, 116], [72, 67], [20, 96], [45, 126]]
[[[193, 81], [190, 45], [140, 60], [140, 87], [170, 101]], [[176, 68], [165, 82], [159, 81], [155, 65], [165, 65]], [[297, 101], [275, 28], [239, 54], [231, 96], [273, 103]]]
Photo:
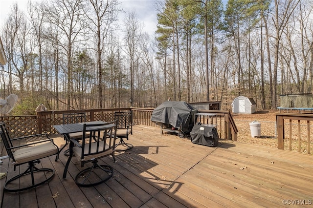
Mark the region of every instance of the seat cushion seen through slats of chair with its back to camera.
[[[104, 145], [104, 141], [101, 141], [99, 143], [99, 149], [103, 148]], [[89, 150], [89, 145], [90, 144], [86, 144], [85, 145], [85, 154], [88, 154], [88, 150]], [[106, 146], [109, 146], [108, 144], [105, 144]], [[97, 148], [97, 143], [91, 143], [91, 152], [96, 152], [96, 148]], [[79, 146], [74, 146], [73, 147], [73, 152], [75, 154], [75, 157], [79, 160], [81, 160], [82, 157], [82, 148]], [[112, 154], [113, 149], [112, 148], [108, 148], [106, 151], [98, 153], [98, 154], [94, 154], [94, 155], [88, 155], [88, 156], [84, 156], [84, 161], [89, 161], [89, 160], [94, 160], [96, 158], [101, 158], [101, 157], [105, 157], [107, 155]]]

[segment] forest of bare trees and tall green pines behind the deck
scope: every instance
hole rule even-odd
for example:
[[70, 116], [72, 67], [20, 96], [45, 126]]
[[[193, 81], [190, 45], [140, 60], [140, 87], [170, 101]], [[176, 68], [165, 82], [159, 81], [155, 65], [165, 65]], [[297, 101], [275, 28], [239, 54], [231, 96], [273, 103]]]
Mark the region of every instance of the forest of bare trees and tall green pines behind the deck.
[[[279, 94], [313, 93], [310, 0], [156, 0], [157, 30], [142, 31], [117, 0], [14, 4], [0, 28], [7, 64], [0, 97], [17, 94], [11, 114], [146, 107], [239, 95], [260, 110]], [[119, 14], [126, 13], [123, 24]]]

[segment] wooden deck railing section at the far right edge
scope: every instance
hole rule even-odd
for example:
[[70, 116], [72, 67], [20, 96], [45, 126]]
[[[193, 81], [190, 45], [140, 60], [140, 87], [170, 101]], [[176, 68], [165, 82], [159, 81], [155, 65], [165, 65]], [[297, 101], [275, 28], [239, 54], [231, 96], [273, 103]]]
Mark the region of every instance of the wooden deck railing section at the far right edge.
[[[289, 120], [289, 122], [285, 120]], [[310, 128], [310, 122], [313, 122], [313, 114], [276, 113], [278, 148], [284, 149], [284, 146], [289, 146], [289, 150], [292, 150], [292, 147], [297, 146], [298, 152], [301, 152], [301, 147], [306, 143], [307, 153], [311, 154], [313, 128]], [[289, 125], [285, 126], [285, 123]], [[294, 126], [297, 127], [294, 128]], [[285, 137], [285, 132], [288, 131], [289, 137]], [[284, 143], [286, 140], [289, 143]], [[298, 140], [296, 142], [297, 145], [294, 143], [296, 140]]]

